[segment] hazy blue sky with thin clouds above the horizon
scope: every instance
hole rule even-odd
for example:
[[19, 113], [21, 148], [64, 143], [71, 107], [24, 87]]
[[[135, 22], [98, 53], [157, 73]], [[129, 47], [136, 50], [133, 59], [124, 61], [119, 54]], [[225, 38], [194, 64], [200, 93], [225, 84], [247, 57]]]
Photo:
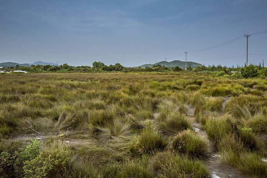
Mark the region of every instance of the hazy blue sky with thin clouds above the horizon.
[[[132, 67], [185, 61], [188, 51], [187, 61], [242, 66], [241, 36], [267, 31], [266, 7], [266, 0], [0, 0], [0, 63]], [[248, 38], [248, 53], [249, 64], [267, 66], [267, 55], [252, 55], [267, 54], [267, 33]]]

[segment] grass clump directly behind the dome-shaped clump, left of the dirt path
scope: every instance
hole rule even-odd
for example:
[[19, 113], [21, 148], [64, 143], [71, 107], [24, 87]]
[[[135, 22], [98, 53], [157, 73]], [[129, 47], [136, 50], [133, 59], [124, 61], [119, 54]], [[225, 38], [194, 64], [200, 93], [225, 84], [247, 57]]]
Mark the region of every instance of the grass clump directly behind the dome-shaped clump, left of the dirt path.
[[169, 114], [165, 120], [157, 123], [157, 129], [167, 135], [176, 134], [188, 128], [191, 128], [190, 122], [180, 112]]

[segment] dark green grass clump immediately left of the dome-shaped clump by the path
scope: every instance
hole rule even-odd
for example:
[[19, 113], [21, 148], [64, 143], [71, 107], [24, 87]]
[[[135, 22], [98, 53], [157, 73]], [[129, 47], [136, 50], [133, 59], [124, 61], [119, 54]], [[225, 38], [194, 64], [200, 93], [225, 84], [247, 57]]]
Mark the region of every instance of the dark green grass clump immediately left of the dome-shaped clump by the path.
[[151, 126], [143, 129], [141, 134], [137, 136], [131, 146], [130, 152], [134, 155], [144, 153], [153, 153], [157, 150], [163, 150], [167, 147], [168, 142], [163, 135], [155, 131]]

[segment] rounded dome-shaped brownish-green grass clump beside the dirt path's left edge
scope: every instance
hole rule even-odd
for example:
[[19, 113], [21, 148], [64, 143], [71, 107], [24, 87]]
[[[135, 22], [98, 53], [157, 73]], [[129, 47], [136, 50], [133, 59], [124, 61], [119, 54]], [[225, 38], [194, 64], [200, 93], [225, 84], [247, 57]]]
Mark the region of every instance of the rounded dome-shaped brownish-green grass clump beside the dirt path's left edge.
[[172, 148], [188, 156], [203, 156], [208, 149], [207, 141], [195, 131], [184, 130], [172, 140]]

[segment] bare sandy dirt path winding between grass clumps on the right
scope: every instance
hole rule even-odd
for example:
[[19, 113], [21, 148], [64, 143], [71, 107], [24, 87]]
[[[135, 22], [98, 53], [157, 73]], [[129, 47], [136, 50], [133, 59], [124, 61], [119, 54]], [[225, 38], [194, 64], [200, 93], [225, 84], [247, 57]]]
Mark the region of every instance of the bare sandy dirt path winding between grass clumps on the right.
[[[222, 110], [224, 110], [230, 97], [224, 97], [223, 99], [224, 102], [222, 103]], [[186, 107], [188, 110], [187, 116], [192, 122], [193, 129], [199, 135], [204, 137], [209, 145], [209, 149], [207, 150], [207, 159], [204, 162], [210, 170], [211, 178], [248, 178], [248, 176], [243, 175], [242, 172], [238, 171], [237, 169], [219, 163], [220, 155], [214, 151], [212, 143], [208, 139], [207, 132], [205, 130], [201, 130], [203, 127], [201, 127], [199, 123], [195, 122], [195, 118], [193, 117], [195, 108], [190, 105], [186, 105]]]

